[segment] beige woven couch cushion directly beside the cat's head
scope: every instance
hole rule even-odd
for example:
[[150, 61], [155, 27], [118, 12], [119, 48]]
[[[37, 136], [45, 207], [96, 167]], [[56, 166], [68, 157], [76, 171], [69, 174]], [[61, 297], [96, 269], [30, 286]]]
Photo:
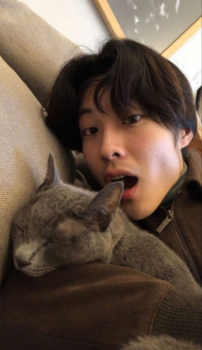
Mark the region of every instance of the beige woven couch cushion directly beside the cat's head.
[[9, 231], [19, 206], [46, 175], [48, 153], [64, 182], [73, 182], [75, 159], [44, 125], [41, 105], [0, 57], [0, 285], [11, 262]]

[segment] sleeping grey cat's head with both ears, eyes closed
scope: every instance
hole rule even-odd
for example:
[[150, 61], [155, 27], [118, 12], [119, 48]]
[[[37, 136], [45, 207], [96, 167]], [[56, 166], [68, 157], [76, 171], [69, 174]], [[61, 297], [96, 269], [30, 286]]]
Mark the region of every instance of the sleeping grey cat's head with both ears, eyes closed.
[[110, 224], [122, 191], [121, 182], [98, 194], [64, 184], [49, 154], [44, 182], [12, 225], [15, 267], [40, 276], [69, 265], [109, 262], [113, 249]]

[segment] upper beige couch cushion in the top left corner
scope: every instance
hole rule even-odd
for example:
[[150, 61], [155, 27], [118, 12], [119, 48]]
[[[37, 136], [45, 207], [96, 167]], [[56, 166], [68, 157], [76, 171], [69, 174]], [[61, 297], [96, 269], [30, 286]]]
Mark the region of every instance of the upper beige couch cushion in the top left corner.
[[80, 52], [25, 3], [0, 1], [0, 56], [42, 105], [61, 64]]

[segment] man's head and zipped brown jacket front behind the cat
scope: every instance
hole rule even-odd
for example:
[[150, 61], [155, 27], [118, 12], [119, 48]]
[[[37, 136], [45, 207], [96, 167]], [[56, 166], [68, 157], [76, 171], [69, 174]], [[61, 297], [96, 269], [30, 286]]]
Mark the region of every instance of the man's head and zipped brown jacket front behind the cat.
[[197, 124], [182, 72], [145, 45], [113, 39], [64, 65], [47, 112], [47, 125], [83, 152], [101, 187], [124, 182], [128, 217], [180, 255], [200, 282], [200, 157], [187, 150]]

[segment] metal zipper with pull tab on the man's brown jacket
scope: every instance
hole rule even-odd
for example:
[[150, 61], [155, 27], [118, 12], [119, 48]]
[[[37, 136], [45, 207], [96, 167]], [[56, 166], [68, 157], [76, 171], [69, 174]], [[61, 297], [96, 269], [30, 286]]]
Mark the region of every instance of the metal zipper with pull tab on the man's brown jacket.
[[[178, 194], [178, 193], [177, 193], [177, 194]], [[193, 274], [195, 280], [196, 280], [198, 283], [201, 283], [200, 277], [198, 276], [198, 273], [197, 273], [197, 271], [196, 271], [196, 268], [195, 268], [195, 266], [194, 266], [194, 264], [193, 264], [193, 262], [192, 262], [192, 260], [191, 260], [191, 258], [190, 258], [190, 254], [189, 254], [189, 252], [188, 252], [188, 250], [187, 250], [187, 248], [186, 248], [186, 246], [185, 246], [185, 244], [184, 244], [184, 242], [183, 242], [183, 239], [182, 239], [182, 237], [181, 237], [179, 231], [177, 230], [177, 226], [176, 226], [175, 221], [174, 221], [173, 206], [174, 206], [174, 201], [175, 201], [175, 198], [176, 198], [177, 194], [175, 195], [175, 197], [174, 197], [173, 200], [172, 200], [170, 210], [167, 211], [167, 210], [164, 209], [161, 205], [159, 206], [161, 209], [163, 209], [163, 211], [166, 212], [166, 214], [168, 214], [168, 216], [167, 216], [166, 219], [161, 223], [161, 225], [156, 229], [156, 231], [157, 231], [158, 233], [160, 233], [160, 232], [169, 224], [169, 222], [171, 221], [171, 224], [172, 224], [172, 226], [173, 226], [173, 229], [174, 229], [174, 232], [175, 232], [175, 234], [176, 234], [176, 237], [177, 237], [177, 239], [178, 239], [178, 241], [179, 241], [179, 243], [180, 243], [180, 246], [181, 246], [181, 248], [182, 248], [182, 251], [183, 251], [183, 253], [184, 253], [184, 256], [185, 256], [185, 258], [186, 258], [186, 260], [187, 260], [189, 269], [190, 269], [190, 271], [192, 272], [192, 274]]]

